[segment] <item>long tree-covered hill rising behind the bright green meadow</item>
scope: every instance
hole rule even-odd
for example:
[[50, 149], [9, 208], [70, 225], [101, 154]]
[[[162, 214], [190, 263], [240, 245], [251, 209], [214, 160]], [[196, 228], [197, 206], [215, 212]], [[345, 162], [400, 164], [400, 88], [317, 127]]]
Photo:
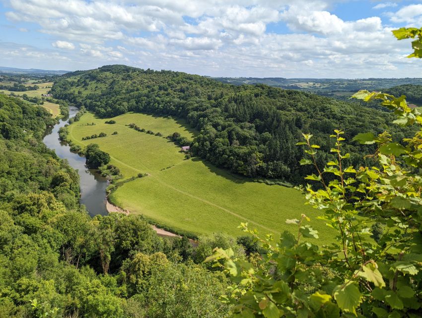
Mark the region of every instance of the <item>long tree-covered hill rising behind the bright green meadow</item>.
[[[325, 151], [320, 162], [331, 158], [334, 145], [329, 135], [335, 128], [345, 130], [349, 141], [367, 131], [389, 130], [395, 140], [406, 134], [387, 125], [391, 114], [358, 103], [263, 84], [235, 86], [196, 75], [123, 65], [66, 74], [52, 91], [56, 98], [85, 106], [101, 117], [136, 111], [185, 118], [200, 131], [192, 144], [200, 157], [246, 176], [292, 182], [301, 182], [309, 172], [299, 167], [304, 154], [295, 146], [302, 132], [314, 134], [315, 143]], [[368, 150], [347, 146], [350, 164], [363, 164], [362, 153]]]

